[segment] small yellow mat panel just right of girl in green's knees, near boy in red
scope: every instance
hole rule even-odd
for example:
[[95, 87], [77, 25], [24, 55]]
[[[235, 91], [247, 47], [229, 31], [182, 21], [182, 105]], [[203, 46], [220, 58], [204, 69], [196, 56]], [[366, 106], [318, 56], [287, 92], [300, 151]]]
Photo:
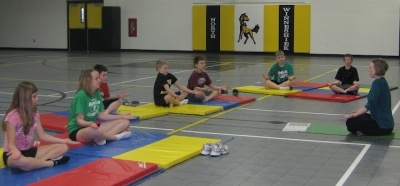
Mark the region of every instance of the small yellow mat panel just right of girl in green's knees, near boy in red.
[[163, 116], [163, 115], [168, 114], [167, 110], [150, 109], [150, 108], [146, 108], [143, 106], [130, 107], [130, 106], [121, 105], [117, 111], [118, 111], [118, 114], [129, 113], [132, 116], [138, 116], [139, 119], [154, 118], [157, 116]]

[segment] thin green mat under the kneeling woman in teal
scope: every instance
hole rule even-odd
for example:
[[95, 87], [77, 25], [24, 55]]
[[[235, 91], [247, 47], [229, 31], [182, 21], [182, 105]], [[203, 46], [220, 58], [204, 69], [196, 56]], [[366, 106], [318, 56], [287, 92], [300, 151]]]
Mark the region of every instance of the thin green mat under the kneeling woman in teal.
[[[339, 136], [353, 135], [349, 131], [347, 131], [347, 127], [346, 127], [345, 124], [336, 125], [336, 124], [315, 124], [315, 123], [312, 123], [307, 128], [306, 133], [328, 134], [328, 135], [339, 135]], [[400, 139], [400, 129], [394, 129], [392, 134], [390, 134], [390, 135], [365, 136], [365, 137], [386, 138], [386, 139]]]

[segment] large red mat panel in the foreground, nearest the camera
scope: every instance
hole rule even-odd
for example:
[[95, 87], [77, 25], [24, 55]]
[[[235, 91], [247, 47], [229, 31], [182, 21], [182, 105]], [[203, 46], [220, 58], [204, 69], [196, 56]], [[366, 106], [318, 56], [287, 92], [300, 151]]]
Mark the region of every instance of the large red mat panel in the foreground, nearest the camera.
[[154, 163], [101, 158], [30, 185], [127, 185], [157, 172]]

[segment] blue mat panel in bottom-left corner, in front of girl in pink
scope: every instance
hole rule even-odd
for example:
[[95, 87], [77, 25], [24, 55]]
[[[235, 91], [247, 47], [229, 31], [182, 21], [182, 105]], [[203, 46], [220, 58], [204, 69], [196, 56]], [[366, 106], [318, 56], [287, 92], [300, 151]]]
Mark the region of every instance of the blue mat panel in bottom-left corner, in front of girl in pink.
[[79, 154], [67, 153], [67, 155], [71, 157], [69, 162], [55, 167], [43, 168], [29, 172], [10, 168], [0, 169], [1, 185], [28, 185], [29, 183], [40, 181], [99, 159], [98, 157]]

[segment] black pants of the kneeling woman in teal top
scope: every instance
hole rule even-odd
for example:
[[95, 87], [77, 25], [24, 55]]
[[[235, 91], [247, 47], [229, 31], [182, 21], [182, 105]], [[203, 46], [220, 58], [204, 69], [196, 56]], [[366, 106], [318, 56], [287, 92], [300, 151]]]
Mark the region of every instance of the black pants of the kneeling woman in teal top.
[[364, 113], [354, 118], [350, 118], [346, 121], [347, 130], [353, 134], [360, 131], [364, 135], [368, 136], [380, 136], [392, 133], [391, 129], [379, 128], [378, 123], [371, 118], [371, 114]]

